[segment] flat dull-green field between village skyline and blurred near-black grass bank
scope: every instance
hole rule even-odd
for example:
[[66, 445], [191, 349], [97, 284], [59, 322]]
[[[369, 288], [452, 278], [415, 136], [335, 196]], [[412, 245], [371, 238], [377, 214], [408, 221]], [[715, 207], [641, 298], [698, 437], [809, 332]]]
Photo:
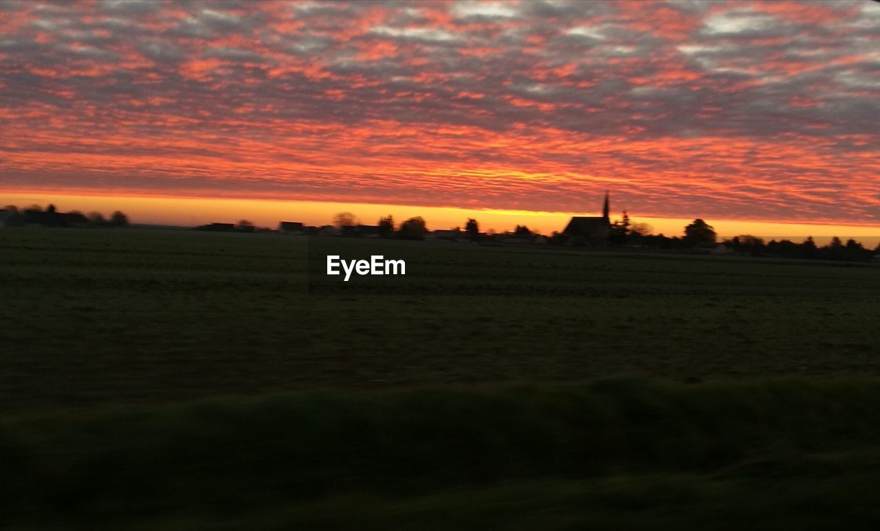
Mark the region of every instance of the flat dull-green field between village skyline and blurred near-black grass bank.
[[306, 293], [304, 237], [0, 229], [0, 415], [619, 374], [880, 375], [876, 267], [319, 244], [406, 258], [412, 289]]

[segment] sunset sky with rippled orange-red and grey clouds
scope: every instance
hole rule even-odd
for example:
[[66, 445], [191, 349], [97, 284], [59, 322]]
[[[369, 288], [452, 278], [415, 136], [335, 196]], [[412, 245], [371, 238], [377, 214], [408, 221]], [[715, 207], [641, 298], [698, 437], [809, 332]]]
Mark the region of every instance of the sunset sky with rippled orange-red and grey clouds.
[[146, 222], [610, 190], [655, 225], [880, 235], [877, 123], [867, 1], [0, 2], [0, 200]]

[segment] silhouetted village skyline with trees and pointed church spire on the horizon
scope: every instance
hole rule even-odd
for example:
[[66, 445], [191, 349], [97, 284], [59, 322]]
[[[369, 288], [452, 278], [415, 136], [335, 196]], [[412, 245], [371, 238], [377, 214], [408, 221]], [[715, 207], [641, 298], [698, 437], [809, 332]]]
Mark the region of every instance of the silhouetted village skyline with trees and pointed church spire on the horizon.
[[[120, 211], [105, 218], [97, 212], [84, 215], [76, 210], [58, 212], [54, 205], [41, 208], [7, 206], [0, 209], [2, 227], [90, 228], [125, 227], [128, 216]], [[464, 228], [430, 230], [421, 216], [396, 224], [391, 215], [378, 220], [376, 225], [357, 222], [355, 215], [341, 212], [334, 222], [327, 225], [308, 225], [304, 222], [279, 222], [276, 229], [258, 228], [252, 222], [213, 222], [195, 227], [194, 230], [235, 233], [277, 233], [291, 236], [327, 236], [353, 238], [395, 238], [404, 240], [440, 240], [459, 244], [495, 246], [560, 246], [606, 251], [653, 251], [704, 255], [730, 255], [770, 258], [804, 258], [880, 263], [880, 244], [875, 249], [864, 247], [854, 239], [843, 242], [834, 236], [829, 244], [818, 246], [811, 236], [796, 243], [788, 239], [770, 240], [751, 235], [741, 235], [718, 241], [715, 229], [707, 222], [696, 219], [684, 228], [683, 236], [651, 234], [651, 227], [634, 223], [624, 211], [620, 220], [611, 221], [609, 194], [600, 216], [573, 216], [560, 232], [542, 235], [525, 225], [498, 233], [481, 231], [475, 219], [468, 219]]]

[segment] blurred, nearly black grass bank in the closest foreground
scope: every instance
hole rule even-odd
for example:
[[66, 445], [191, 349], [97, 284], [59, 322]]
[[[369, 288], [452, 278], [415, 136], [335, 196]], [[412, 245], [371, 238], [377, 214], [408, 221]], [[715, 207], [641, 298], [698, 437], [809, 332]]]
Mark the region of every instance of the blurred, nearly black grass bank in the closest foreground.
[[10, 529], [872, 528], [880, 381], [310, 392], [0, 421]]

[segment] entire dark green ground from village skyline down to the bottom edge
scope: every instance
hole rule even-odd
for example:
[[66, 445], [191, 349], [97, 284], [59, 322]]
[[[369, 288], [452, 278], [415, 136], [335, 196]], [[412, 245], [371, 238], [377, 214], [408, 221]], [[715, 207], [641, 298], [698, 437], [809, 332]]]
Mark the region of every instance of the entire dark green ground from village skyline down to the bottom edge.
[[[316, 284], [330, 249], [407, 276]], [[9, 528], [880, 517], [876, 266], [145, 229], [0, 256]]]

